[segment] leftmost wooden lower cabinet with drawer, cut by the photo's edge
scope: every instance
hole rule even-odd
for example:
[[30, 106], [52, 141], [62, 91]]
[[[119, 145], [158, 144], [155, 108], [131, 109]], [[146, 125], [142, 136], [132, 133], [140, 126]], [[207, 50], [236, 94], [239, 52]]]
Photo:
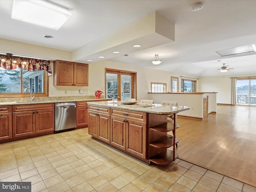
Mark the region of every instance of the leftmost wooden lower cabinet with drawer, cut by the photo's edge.
[[12, 138], [12, 106], [0, 106], [0, 140]]

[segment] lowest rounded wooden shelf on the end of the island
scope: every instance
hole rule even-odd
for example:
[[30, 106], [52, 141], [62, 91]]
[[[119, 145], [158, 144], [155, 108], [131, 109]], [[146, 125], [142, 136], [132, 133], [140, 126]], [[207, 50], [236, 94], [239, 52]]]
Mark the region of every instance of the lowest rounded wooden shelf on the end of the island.
[[[178, 156], [178, 153], [175, 152], [175, 159], [178, 158]], [[158, 165], [168, 165], [175, 159], [173, 159], [173, 151], [167, 150], [166, 153], [159, 153], [156, 156], [150, 158], [149, 160], [150, 162], [153, 162]]]

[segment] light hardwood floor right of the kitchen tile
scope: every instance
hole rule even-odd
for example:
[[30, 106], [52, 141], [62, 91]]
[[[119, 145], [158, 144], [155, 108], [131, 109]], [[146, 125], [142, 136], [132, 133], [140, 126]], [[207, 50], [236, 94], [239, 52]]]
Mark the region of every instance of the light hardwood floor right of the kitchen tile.
[[256, 186], [256, 107], [217, 105], [205, 120], [177, 124], [179, 158]]

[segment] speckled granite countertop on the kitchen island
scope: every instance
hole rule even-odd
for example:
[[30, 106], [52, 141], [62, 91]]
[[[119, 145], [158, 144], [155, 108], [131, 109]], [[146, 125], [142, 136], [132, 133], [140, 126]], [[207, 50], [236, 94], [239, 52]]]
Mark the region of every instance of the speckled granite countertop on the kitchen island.
[[140, 106], [140, 103], [137, 103], [137, 105], [132, 105], [132, 104], [128, 105], [128, 104], [122, 104], [122, 102], [117, 102], [117, 101], [90, 102], [89, 105], [106, 106], [106, 107], [112, 107], [112, 108], [120, 108], [120, 109], [161, 114], [161, 115], [170, 115], [170, 114], [174, 114], [174, 113], [178, 113], [178, 112], [190, 109], [190, 107], [188, 106], [162, 106], [161, 104], [153, 104], [149, 106], [145, 106], [144, 104], [142, 104]]

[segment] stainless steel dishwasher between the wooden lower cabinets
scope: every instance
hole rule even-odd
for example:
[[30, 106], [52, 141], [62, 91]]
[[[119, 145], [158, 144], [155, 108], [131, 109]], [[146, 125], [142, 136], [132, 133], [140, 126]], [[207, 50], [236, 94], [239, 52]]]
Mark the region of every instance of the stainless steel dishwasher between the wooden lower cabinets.
[[54, 133], [76, 128], [76, 102], [55, 103]]

